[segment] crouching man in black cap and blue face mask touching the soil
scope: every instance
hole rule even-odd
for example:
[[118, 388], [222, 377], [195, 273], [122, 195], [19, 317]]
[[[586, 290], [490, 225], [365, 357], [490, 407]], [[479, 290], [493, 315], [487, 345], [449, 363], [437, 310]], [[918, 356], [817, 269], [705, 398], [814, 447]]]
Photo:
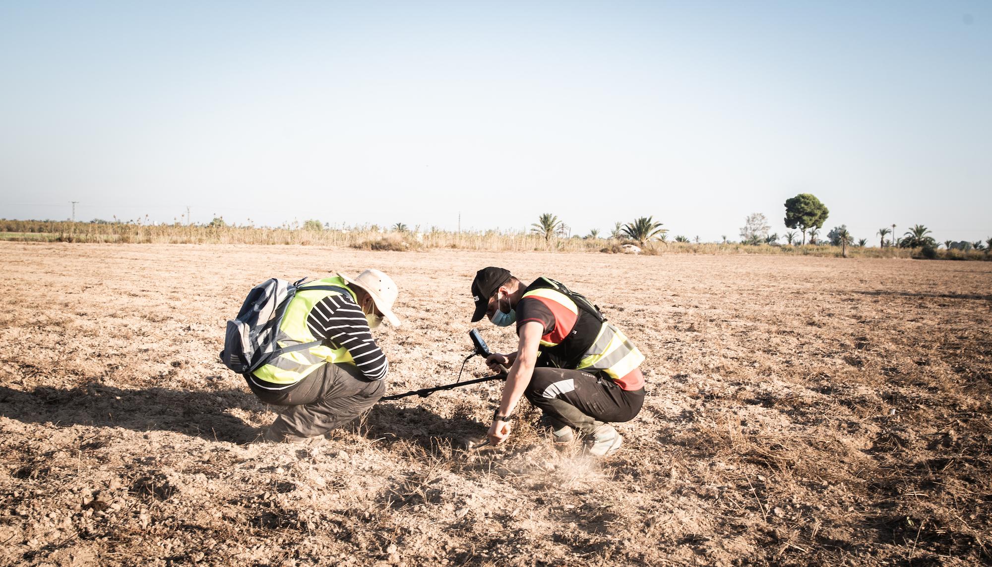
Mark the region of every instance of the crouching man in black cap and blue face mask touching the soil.
[[516, 323], [517, 352], [486, 359], [493, 370], [510, 368], [488, 437], [499, 444], [510, 435], [521, 396], [544, 412], [557, 444], [574, 432], [585, 451], [608, 455], [623, 437], [609, 422], [629, 421], [644, 403], [644, 356], [603, 318], [583, 295], [549, 278], [524, 284], [503, 268], [479, 270], [472, 281], [472, 322], [488, 317], [498, 326]]

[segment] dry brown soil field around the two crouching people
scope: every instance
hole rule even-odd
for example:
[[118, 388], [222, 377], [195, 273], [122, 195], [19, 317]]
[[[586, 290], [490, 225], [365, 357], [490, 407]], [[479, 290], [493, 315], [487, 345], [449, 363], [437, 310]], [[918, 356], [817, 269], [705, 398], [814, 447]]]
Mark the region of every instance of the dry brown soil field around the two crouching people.
[[[276, 414], [217, 352], [251, 285], [392, 275], [396, 394], [455, 379], [490, 264], [584, 292], [644, 351], [616, 456], [556, 453], [530, 409], [465, 451], [497, 383], [244, 445]], [[0, 243], [0, 269], [2, 564], [992, 562], [992, 264]]]

